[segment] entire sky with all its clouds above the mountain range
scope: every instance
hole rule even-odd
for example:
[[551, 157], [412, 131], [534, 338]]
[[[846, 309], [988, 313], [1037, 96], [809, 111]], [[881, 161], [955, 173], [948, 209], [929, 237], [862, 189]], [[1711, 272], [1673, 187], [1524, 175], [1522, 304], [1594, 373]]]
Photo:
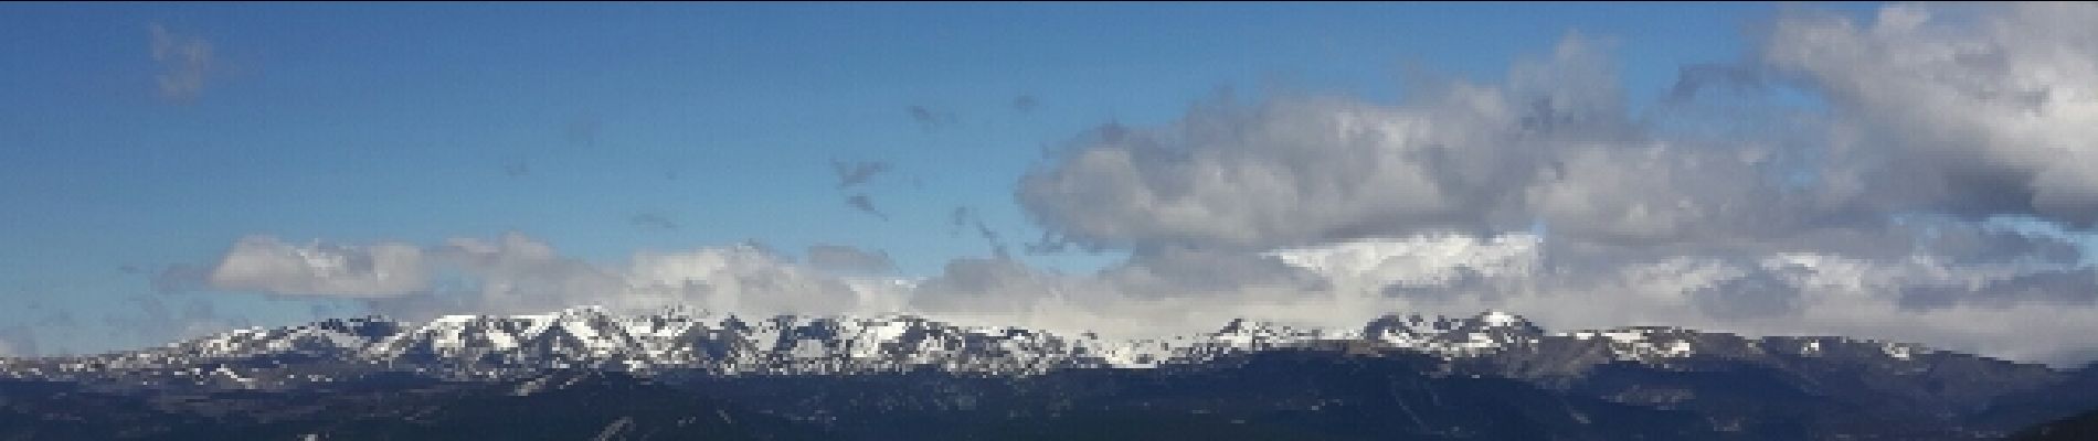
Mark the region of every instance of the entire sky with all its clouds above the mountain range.
[[2092, 4], [0, 4], [0, 355], [1506, 309], [2098, 359]]

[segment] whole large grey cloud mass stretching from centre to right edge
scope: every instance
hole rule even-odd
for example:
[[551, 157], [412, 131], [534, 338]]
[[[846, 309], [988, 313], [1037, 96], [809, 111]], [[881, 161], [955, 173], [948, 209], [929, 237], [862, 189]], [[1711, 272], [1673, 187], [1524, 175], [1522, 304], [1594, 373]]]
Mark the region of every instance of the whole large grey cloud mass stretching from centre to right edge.
[[1779, 75], [1825, 90], [1840, 115], [1760, 109], [1771, 121], [1754, 123], [1779, 123], [1760, 136], [1657, 125], [1729, 123], [1695, 121], [1714, 117], [1695, 102], [1630, 117], [1609, 44], [1569, 36], [1504, 84], [1454, 84], [1406, 105], [1219, 96], [1169, 125], [1104, 125], [1028, 171], [1015, 196], [1057, 240], [1137, 251], [1538, 224], [1601, 247], [1832, 251], [1859, 247], [1838, 236], [1901, 242], [1880, 232], [1903, 215], [2090, 226], [2098, 33], [2062, 17], [2092, 10], [2010, 6], [1983, 13], [1976, 29], [1920, 6], [1888, 6], [1869, 29], [1787, 17], [1752, 65], [1685, 67], [1685, 100], [1716, 84], [1752, 94]]

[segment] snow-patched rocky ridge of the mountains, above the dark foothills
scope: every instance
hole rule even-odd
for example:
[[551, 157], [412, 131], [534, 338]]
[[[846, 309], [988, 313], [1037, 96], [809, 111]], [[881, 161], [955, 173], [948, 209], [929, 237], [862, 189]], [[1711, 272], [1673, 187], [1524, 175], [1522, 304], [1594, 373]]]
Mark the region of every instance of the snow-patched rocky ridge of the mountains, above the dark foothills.
[[1668, 364], [1689, 357], [1846, 357], [1901, 366], [1930, 353], [1897, 343], [1743, 339], [1680, 328], [1544, 332], [1506, 311], [1385, 316], [1353, 330], [1234, 320], [1196, 336], [1104, 341], [1009, 326], [952, 326], [915, 316], [747, 320], [697, 309], [613, 314], [571, 307], [537, 316], [445, 316], [424, 324], [323, 320], [233, 330], [130, 353], [0, 359], [0, 370], [13, 378], [138, 376], [143, 382], [235, 387], [325, 382], [357, 372], [512, 378], [564, 368], [730, 376], [908, 370], [1024, 376], [1068, 368], [1204, 364], [1273, 349], [1420, 353], [1540, 376], [1580, 374], [1609, 362]]

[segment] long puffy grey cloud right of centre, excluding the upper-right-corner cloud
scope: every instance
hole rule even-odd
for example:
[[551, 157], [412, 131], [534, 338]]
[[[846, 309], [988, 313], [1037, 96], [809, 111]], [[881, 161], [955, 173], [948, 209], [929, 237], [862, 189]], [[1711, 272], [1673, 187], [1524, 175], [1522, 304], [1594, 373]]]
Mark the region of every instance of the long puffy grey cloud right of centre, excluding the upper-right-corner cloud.
[[[1550, 56], [1511, 69], [1500, 88], [1454, 86], [1406, 107], [1330, 96], [1238, 105], [1219, 96], [1166, 127], [1095, 130], [1024, 176], [1018, 199], [1055, 234], [1106, 249], [1257, 251], [1431, 230], [1496, 232], [1525, 228], [1540, 211], [1597, 232], [1666, 240], [1722, 215], [1678, 209], [1708, 194], [1538, 209], [1555, 196], [1603, 190], [1586, 186], [1615, 190], [1653, 171], [1666, 180], [1664, 167], [1704, 167], [1678, 180], [1708, 169], [1754, 171], [1746, 155], [1685, 159], [1674, 153], [1697, 148], [1639, 136], [1601, 52], [1597, 42], [1567, 38]], [[1756, 182], [1691, 190], [1733, 184]], [[1710, 201], [1735, 207], [1725, 203]], [[1664, 230], [1643, 230], [1655, 226]]]

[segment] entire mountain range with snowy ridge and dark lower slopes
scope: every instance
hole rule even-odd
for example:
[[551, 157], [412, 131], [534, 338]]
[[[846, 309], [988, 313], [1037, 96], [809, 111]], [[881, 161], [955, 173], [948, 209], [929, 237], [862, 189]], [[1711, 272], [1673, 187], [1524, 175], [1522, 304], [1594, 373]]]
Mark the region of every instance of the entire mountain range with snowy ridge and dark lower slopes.
[[2098, 408], [2094, 370], [1500, 311], [1104, 341], [575, 307], [252, 328], [0, 378], [0, 439], [1993, 439]]

